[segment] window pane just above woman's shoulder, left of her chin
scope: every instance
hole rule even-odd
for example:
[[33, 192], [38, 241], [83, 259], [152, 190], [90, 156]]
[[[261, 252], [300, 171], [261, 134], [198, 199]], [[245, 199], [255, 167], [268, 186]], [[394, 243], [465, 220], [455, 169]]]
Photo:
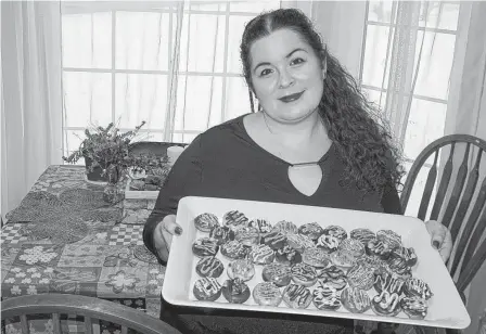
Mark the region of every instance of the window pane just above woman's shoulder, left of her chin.
[[221, 123], [222, 77], [179, 76], [176, 130], [204, 131]]

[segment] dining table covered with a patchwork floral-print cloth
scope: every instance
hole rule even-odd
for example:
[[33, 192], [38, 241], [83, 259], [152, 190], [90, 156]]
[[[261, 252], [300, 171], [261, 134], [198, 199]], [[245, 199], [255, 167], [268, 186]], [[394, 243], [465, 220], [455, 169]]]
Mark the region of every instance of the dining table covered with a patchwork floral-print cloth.
[[[117, 187], [123, 192], [124, 181]], [[122, 195], [112, 203], [103, 190], [87, 180], [84, 166], [54, 165], [42, 172], [1, 229], [2, 299], [79, 294], [159, 317], [165, 267], [142, 240], [155, 201]], [[76, 319], [67, 320], [73, 332]], [[51, 332], [48, 321], [34, 325], [31, 333]], [[102, 334], [118, 331], [100, 324]], [[15, 326], [7, 333], [16, 333]]]

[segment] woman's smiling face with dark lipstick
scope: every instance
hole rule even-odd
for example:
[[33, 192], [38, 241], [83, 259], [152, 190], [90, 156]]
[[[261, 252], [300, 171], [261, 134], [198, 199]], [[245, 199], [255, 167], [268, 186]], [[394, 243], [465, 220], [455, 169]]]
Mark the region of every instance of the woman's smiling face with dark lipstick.
[[271, 118], [297, 123], [317, 110], [323, 92], [322, 63], [297, 33], [280, 29], [258, 39], [250, 56], [255, 94]]

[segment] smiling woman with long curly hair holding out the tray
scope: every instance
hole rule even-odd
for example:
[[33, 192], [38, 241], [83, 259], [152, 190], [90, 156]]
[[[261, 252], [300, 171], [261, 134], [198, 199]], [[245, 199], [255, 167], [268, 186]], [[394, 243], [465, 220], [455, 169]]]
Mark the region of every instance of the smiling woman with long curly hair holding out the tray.
[[[402, 171], [373, 106], [323, 48], [297, 10], [277, 10], [245, 27], [241, 60], [258, 112], [199, 136], [176, 162], [143, 232], [167, 260], [177, 205], [187, 195], [401, 214]], [[446, 230], [431, 222], [434, 241]], [[195, 311], [163, 301], [163, 320], [183, 333], [353, 332], [353, 321], [282, 314]]]

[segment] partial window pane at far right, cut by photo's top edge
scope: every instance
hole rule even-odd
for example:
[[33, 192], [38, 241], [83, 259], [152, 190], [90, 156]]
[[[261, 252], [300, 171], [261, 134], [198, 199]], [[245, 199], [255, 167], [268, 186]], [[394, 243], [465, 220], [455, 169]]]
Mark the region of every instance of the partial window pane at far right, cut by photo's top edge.
[[435, 28], [437, 26], [438, 29], [457, 30], [459, 5], [459, 3], [431, 1], [429, 2], [427, 13], [425, 13], [425, 4], [424, 1], [422, 1], [419, 26], [426, 26], [429, 28]]

